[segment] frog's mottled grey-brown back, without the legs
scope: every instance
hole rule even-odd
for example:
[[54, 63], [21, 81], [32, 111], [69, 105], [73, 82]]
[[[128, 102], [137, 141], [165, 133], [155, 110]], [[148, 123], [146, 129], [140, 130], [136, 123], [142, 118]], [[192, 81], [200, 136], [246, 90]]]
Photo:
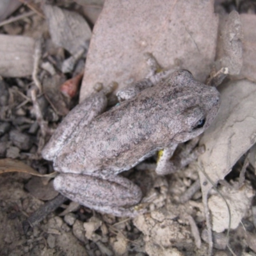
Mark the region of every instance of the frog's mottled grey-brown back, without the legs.
[[128, 170], [143, 157], [170, 145], [177, 133], [188, 132], [190, 127], [188, 120], [184, 120], [184, 111], [199, 106], [207, 115], [212, 108], [217, 108], [219, 94], [215, 88], [191, 77], [184, 81], [183, 74], [182, 81], [179, 78], [170, 77], [97, 116], [63, 148], [63, 154], [57, 159], [65, 161], [62, 171], [118, 173]]

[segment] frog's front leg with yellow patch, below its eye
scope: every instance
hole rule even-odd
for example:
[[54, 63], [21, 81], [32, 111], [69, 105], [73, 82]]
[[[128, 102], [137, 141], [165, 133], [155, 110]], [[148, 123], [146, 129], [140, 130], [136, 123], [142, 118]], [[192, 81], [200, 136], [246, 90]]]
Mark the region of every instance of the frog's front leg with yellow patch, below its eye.
[[184, 148], [178, 148], [177, 152], [173, 154], [177, 145], [170, 148], [164, 148], [159, 152], [159, 159], [157, 161], [156, 173], [159, 175], [167, 175], [177, 172], [184, 168], [192, 161], [195, 161], [200, 154], [205, 152], [205, 147], [196, 147], [199, 137], [194, 138], [188, 143], [184, 144]]

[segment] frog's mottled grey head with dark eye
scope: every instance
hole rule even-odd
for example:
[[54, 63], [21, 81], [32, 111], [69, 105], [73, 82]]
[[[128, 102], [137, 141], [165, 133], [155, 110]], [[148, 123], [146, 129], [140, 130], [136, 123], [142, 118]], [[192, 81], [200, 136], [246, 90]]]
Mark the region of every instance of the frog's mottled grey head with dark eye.
[[[191, 76], [189, 72], [182, 70], [182, 76]], [[186, 99], [182, 99], [184, 108], [180, 109], [180, 132], [175, 134], [173, 141], [182, 143], [200, 135], [211, 125], [220, 108], [220, 93], [215, 87], [191, 79]], [[180, 99], [181, 100], [181, 99]]]

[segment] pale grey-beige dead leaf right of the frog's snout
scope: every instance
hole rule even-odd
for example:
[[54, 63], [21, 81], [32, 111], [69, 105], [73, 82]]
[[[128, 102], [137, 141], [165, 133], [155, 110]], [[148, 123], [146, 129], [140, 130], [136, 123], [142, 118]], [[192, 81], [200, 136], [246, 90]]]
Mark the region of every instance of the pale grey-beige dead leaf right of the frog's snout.
[[[205, 153], [198, 157], [214, 184], [224, 179], [256, 141], [256, 84], [244, 79], [223, 84], [221, 89], [220, 111], [200, 141]], [[199, 175], [202, 191], [207, 194], [212, 184], [204, 173]]]

